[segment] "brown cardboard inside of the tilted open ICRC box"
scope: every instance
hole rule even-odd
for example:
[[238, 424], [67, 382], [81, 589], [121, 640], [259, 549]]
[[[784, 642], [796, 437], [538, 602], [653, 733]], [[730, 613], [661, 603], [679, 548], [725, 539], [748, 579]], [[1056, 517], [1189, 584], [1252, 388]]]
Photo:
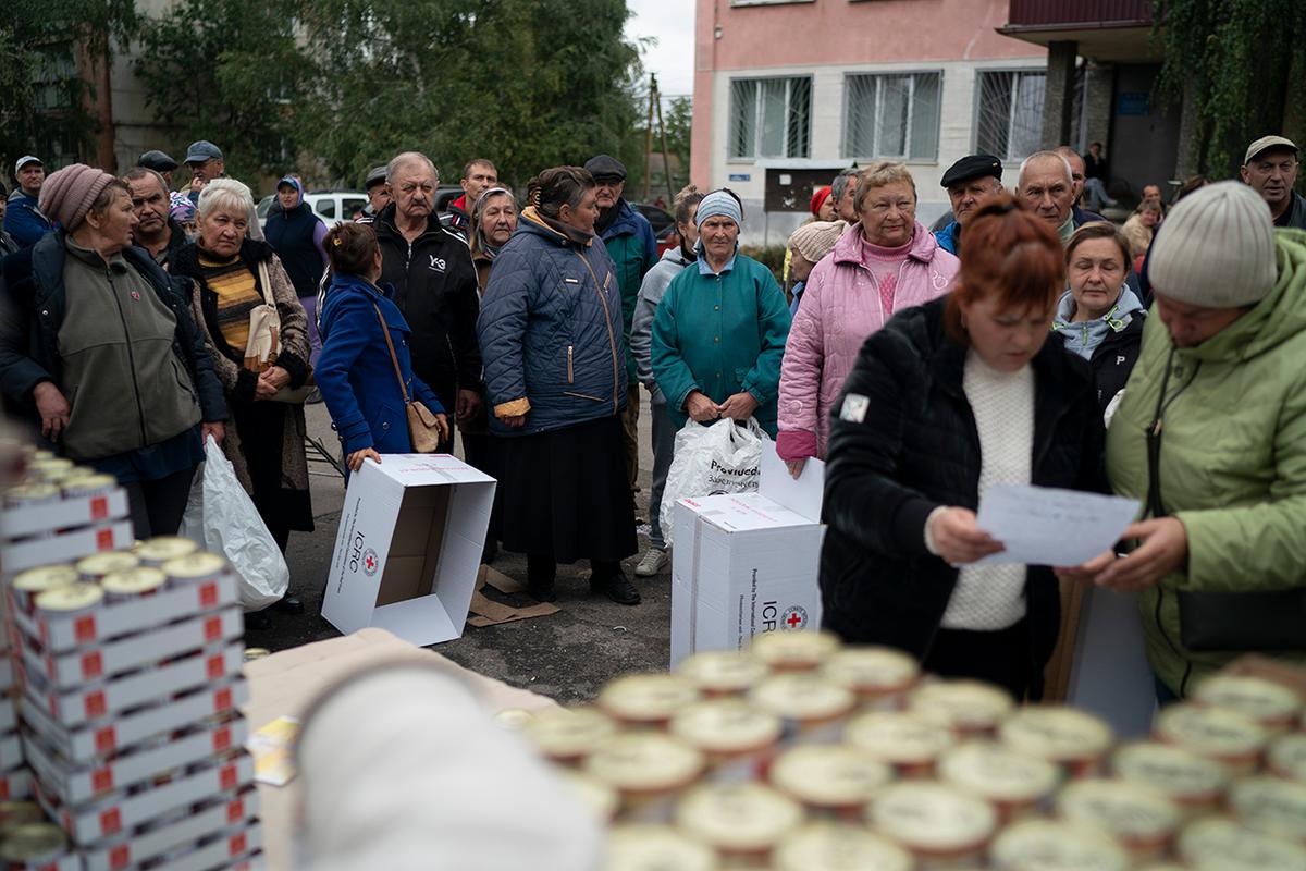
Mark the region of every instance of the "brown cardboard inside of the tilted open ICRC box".
[[431, 594], [456, 487], [410, 487], [404, 492], [376, 607]]

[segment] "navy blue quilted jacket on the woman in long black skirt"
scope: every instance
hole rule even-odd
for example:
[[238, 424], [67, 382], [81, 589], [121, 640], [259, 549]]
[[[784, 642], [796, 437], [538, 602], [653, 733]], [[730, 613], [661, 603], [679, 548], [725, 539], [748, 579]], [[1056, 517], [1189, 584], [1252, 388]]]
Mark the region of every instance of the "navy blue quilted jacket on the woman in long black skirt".
[[[575, 426], [626, 407], [622, 295], [596, 236], [521, 213], [477, 320], [498, 435]], [[500, 418], [526, 415], [508, 428]]]

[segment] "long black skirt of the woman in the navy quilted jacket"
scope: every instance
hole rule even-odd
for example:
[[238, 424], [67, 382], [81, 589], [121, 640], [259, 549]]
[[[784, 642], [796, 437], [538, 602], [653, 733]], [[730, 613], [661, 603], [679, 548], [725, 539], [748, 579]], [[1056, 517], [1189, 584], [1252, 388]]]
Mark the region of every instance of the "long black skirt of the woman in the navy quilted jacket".
[[619, 417], [491, 441], [499, 487], [490, 531], [504, 550], [559, 563], [636, 552]]

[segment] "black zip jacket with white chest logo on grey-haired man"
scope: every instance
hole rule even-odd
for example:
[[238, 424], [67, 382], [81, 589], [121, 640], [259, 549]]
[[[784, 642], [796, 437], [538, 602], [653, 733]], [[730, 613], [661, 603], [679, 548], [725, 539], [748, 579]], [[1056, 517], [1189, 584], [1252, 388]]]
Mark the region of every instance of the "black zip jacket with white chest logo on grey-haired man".
[[468, 243], [432, 215], [410, 245], [394, 226], [393, 202], [371, 225], [381, 245], [377, 283], [394, 285], [394, 304], [413, 328], [413, 371], [452, 410], [458, 389], [482, 385], [481, 294]]

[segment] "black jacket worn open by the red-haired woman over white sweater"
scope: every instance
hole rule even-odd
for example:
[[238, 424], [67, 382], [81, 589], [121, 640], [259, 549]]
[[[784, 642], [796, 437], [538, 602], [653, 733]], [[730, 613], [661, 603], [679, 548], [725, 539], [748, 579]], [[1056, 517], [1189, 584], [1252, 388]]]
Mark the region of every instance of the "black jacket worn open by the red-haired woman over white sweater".
[[[895, 316], [872, 334], [844, 385], [868, 400], [861, 422], [831, 422], [820, 560], [824, 626], [850, 642], [925, 658], [957, 569], [925, 547], [939, 505], [980, 505], [980, 434], [963, 390], [966, 349], [947, 337], [947, 298]], [[1034, 370], [1032, 482], [1102, 492], [1102, 418], [1084, 360], [1050, 337]], [[1025, 585], [1032, 673], [1057, 641], [1060, 598], [1050, 568]], [[1036, 678], [1032, 691], [1041, 692]]]

